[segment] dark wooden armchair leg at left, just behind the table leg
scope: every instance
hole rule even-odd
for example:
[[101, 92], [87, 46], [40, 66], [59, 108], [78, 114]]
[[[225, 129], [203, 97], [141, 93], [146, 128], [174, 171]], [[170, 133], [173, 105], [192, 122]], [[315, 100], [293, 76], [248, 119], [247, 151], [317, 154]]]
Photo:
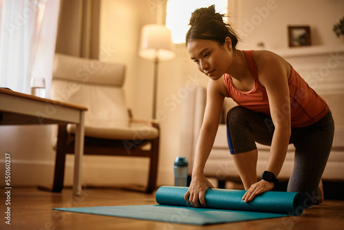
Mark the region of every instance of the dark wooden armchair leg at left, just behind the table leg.
[[67, 143], [67, 125], [58, 125], [58, 139], [56, 148], [56, 160], [54, 171], [54, 184], [52, 191], [61, 192], [63, 189], [63, 178], [65, 177], [65, 155], [64, 146]]

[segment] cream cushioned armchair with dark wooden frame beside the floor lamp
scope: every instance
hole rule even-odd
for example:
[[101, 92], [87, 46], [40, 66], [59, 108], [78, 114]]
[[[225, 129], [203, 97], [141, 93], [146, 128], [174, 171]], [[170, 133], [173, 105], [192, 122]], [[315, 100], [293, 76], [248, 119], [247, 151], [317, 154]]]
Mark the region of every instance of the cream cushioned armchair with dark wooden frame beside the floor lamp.
[[[131, 119], [122, 90], [125, 65], [56, 54], [52, 99], [83, 105], [85, 114], [84, 155], [150, 158], [145, 192], [155, 189], [158, 171], [159, 125]], [[75, 125], [59, 125], [52, 191], [63, 188], [65, 156], [74, 151]]]

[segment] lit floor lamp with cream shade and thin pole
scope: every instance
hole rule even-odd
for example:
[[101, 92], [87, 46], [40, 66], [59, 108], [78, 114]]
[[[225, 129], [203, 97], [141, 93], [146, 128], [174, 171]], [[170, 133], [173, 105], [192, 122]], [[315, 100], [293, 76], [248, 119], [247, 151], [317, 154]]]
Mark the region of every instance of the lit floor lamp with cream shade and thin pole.
[[140, 56], [154, 61], [153, 119], [156, 118], [156, 98], [159, 61], [173, 59], [171, 30], [164, 25], [144, 25], [141, 32]]

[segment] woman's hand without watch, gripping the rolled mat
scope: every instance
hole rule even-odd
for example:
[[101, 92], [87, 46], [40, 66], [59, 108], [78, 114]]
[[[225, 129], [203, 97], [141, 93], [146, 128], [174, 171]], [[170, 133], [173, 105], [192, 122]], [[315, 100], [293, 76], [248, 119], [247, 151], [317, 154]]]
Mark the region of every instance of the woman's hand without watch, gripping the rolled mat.
[[[189, 202], [193, 207], [206, 207], [206, 201], [204, 200], [204, 196], [206, 194], [206, 189], [213, 188], [211, 182], [204, 176], [204, 174], [200, 175], [193, 175], [189, 190], [184, 195], [184, 200]], [[200, 203], [198, 202], [200, 200]]]

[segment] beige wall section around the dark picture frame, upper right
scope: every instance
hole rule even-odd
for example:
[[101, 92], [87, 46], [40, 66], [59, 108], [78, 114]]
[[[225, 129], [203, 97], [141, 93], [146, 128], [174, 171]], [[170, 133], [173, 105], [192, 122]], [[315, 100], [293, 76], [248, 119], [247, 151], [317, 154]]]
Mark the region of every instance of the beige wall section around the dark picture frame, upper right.
[[[343, 43], [332, 27], [344, 16], [341, 0], [239, 0], [240, 48], [267, 50], [288, 48], [288, 25], [310, 25], [312, 45]], [[233, 15], [235, 17], [235, 15]]]

